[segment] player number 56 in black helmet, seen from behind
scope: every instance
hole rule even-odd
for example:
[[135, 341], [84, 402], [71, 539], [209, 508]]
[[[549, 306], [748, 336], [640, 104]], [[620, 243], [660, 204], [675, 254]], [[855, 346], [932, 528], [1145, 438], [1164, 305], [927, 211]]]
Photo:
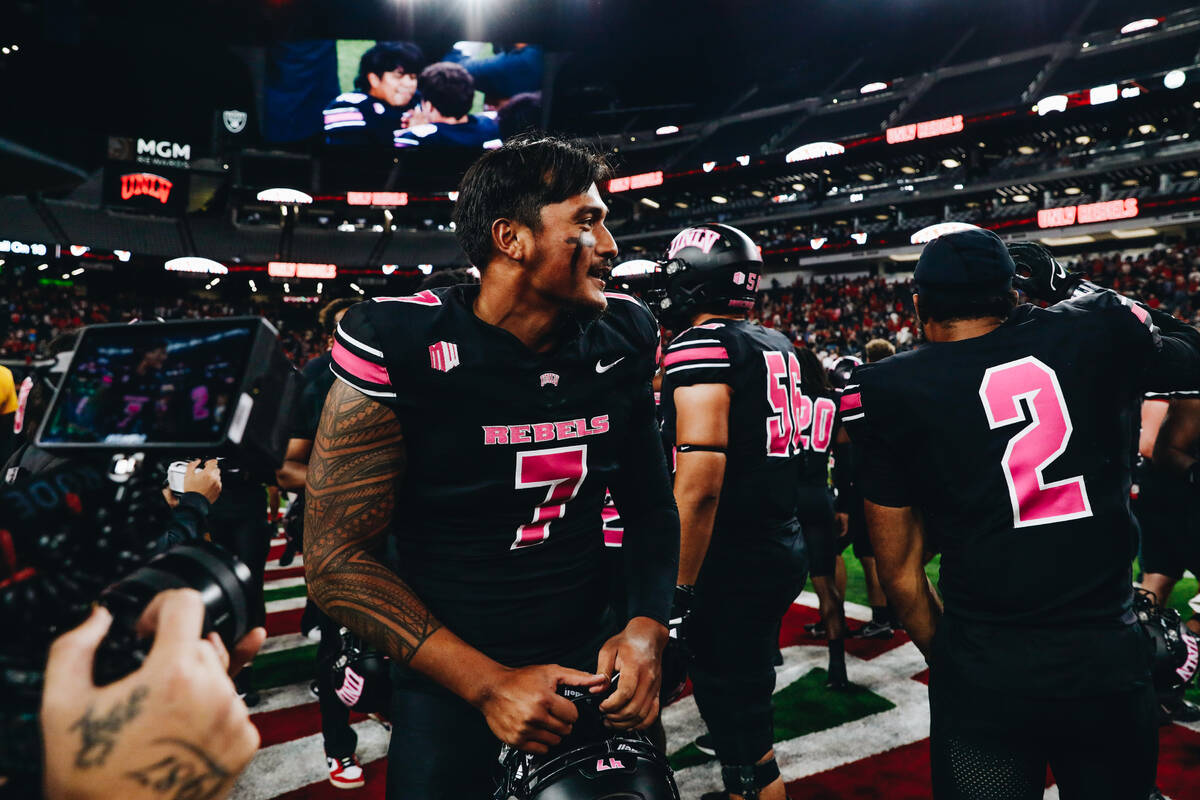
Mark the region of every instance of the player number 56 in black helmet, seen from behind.
[[696, 704], [728, 795], [782, 800], [772, 660], [808, 569], [796, 501], [814, 408], [792, 343], [745, 319], [761, 270], [758, 248], [730, 225], [688, 228], [671, 242], [664, 324], [686, 330], [664, 357], [662, 408], [676, 449], [679, 584], [695, 587]]

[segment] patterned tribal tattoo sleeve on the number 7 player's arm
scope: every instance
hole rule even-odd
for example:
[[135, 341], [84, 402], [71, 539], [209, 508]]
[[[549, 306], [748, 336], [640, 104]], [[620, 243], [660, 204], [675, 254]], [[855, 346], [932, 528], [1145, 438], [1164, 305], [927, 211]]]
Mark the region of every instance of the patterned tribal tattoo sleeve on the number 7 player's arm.
[[305, 576], [330, 616], [407, 664], [442, 624], [372, 551], [388, 535], [404, 437], [391, 409], [337, 381], [308, 461]]

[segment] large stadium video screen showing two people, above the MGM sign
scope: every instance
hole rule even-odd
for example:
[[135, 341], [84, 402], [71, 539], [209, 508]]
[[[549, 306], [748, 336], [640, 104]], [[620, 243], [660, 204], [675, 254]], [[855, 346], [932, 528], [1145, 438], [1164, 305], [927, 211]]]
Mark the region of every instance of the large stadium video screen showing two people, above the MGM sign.
[[265, 134], [316, 132], [332, 148], [498, 148], [542, 124], [542, 48], [457, 42], [431, 53], [416, 42], [324, 40], [268, 53]]

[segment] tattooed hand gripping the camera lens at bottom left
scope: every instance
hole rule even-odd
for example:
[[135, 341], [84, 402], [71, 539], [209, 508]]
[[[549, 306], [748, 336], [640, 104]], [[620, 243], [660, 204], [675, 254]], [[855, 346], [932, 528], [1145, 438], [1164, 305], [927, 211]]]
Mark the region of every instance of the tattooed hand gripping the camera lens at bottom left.
[[163, 594], [145, 663], [115, 684], [91, 679], [112, 624], [103, 608], [50, 648], [41, 709], [50, 800], [161, 800], [172, 786], [220, 800], [258, 750], [224, 664], [200, 638], [199, 594]]

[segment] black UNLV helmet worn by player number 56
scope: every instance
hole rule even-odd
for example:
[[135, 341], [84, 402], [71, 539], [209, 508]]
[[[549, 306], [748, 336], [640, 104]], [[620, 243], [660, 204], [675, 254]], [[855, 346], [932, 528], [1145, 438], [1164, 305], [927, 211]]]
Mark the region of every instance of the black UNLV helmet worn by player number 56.
[[671, 326], [685, 324], [697, 308], [750, 311], [761, 272], [758, 247], [737, 228], [718, 222], [685, 228], [661, 264], [656, 311]]

